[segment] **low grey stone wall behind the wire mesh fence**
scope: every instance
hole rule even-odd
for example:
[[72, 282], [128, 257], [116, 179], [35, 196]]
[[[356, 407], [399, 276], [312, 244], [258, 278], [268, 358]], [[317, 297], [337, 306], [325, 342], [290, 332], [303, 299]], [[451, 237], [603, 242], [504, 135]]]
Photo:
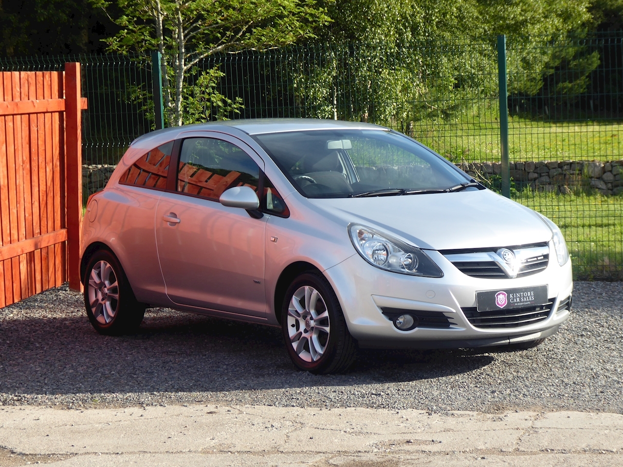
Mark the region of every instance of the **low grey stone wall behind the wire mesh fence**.
[[[502, 172], [502, 164], [494, 162], [456, 164], [476, 179], [487, 181]], [[115, 170], [113, 165], [82, 166], [82, 191], [87, 196], [106, 186]], [[535, 191], [569, 194], [596, 189], [602, 194], [623, 192], [623, 161], [527, 161], [510, 163], [510, 176], [517, 189], [530, 187]]]

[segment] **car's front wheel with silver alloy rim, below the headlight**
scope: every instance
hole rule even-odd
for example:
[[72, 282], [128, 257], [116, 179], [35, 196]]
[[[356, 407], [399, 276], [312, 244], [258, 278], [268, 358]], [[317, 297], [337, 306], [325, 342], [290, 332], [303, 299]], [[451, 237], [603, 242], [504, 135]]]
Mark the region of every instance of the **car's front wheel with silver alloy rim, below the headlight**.
[[353, 364], [356, 344], [324, 276], [298, 276], [285, 293], [281, 316], [285, 346], [298, 369], [328, 374]]

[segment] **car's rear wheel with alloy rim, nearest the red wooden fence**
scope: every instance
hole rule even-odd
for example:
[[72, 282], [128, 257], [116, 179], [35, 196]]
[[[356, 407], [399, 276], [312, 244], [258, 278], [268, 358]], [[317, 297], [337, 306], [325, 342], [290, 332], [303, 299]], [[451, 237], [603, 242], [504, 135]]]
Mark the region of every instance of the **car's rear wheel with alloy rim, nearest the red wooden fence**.
[[107, 250], [99, 250], [88, 262], [84, 304], [93, 328], [108, 336], [135, 332], [145, 315], [145, 304], [136, 301], [123, 268]]

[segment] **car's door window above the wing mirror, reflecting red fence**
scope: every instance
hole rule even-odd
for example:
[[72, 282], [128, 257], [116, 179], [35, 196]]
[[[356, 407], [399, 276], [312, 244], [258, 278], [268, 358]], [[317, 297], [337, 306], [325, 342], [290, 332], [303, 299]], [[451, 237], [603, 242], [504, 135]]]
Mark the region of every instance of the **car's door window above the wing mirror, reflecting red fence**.
[[257, 192], [260, 167], [238, 146], [214, 138], [184, 139], [179, 154], [178, 191], [211, 200], [235, 186]]

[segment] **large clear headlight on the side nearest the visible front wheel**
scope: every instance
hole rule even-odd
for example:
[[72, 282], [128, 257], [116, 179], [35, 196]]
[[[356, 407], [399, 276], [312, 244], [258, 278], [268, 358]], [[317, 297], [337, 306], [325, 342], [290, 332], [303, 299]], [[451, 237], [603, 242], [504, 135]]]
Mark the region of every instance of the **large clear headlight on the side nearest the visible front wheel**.
[[350, 224], [348, 232], [359, 255], [373, 266], [413, 276], [444, 276], [419, 248], [359, 224]]

